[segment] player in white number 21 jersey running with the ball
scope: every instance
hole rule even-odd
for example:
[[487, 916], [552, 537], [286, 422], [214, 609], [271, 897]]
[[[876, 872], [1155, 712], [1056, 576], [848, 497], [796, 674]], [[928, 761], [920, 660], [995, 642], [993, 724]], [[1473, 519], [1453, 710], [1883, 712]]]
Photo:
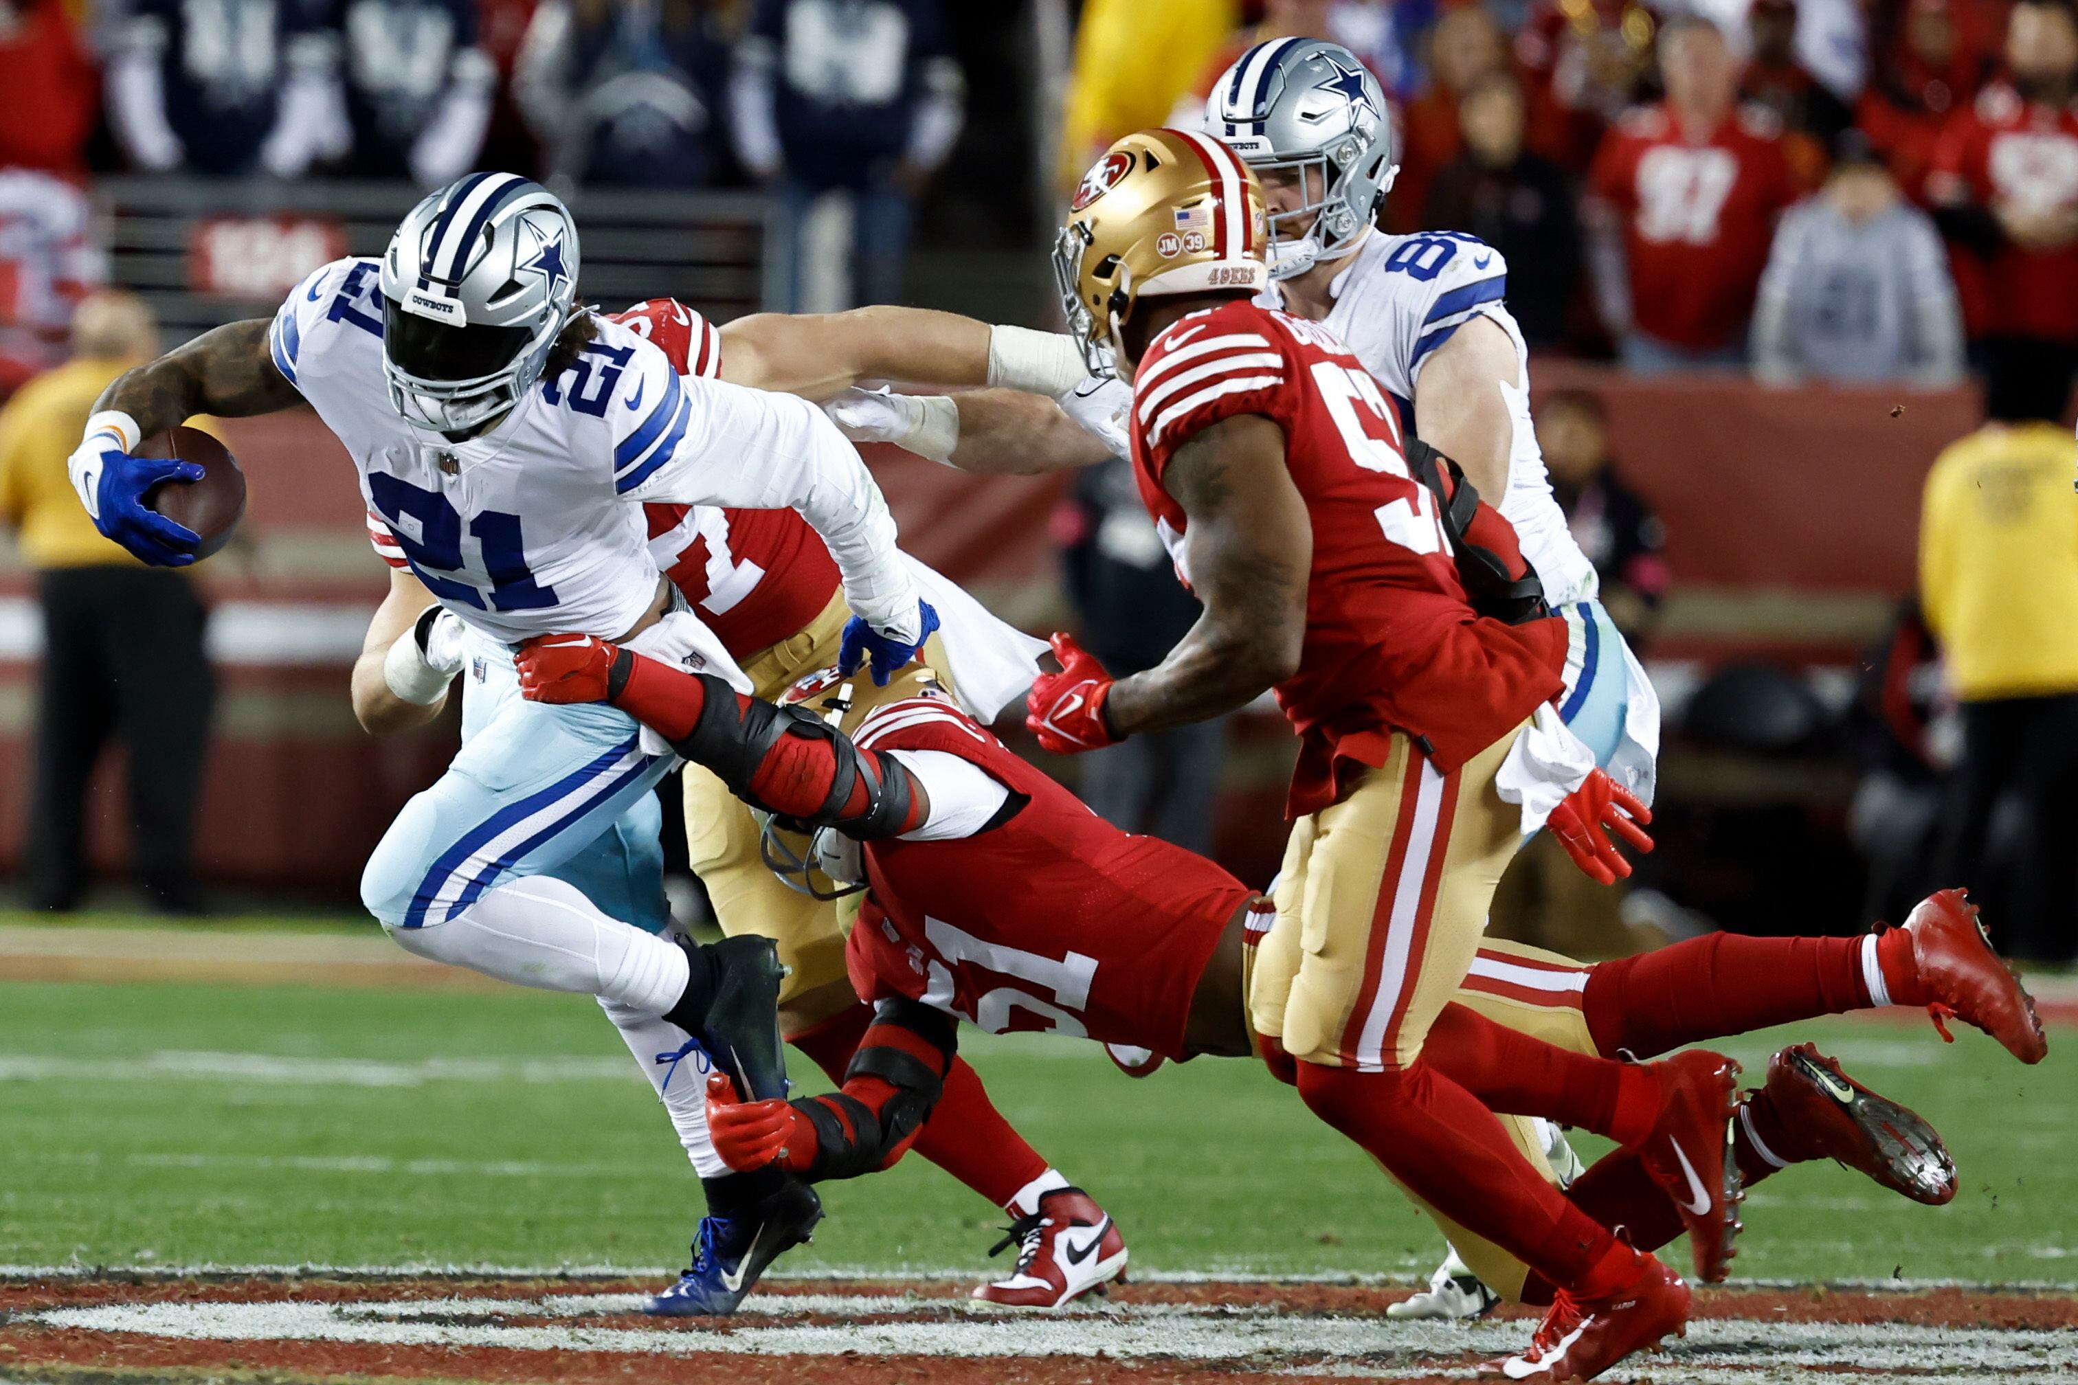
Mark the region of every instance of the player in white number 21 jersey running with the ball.
[[[135, 556], [191, 563], [197, 536], [143, 494], [199, 471], [137, 457], [139, 440], [195, 413], [310, 403], [470, 658], [509, 667], [530, 635], [621, 633], [748, 691], [650, 554], [642, 503], [667, 500], [800, 511], [854, 613], [844, 660], [908, 662], [937, 617], [858, 453], [806, 401], [682, 380], [652, 343], [578, 303], [578, 272], [576, 224], [547, 189], [505, 172], [459, 179], [405, 216], [382, 260], [328, 264], [272, 320], [216, 328], [110, 384], [73, 453], [73, 484]], [[387, 660], [405, 702], [438, 698], [453, 675], [428, 654], [399, 642]], [[781, 1094], [769, 939], [680, 945], [549, 874], [671, 764], [625, 716], [505, 698], [391, 824], [362, 901], [414, 953], [659, 1015]], [[740, 1292], [808, 1235], [821, 1206], [790, 1179], [727, 1196], [744, 1235], [717, 1252]]]

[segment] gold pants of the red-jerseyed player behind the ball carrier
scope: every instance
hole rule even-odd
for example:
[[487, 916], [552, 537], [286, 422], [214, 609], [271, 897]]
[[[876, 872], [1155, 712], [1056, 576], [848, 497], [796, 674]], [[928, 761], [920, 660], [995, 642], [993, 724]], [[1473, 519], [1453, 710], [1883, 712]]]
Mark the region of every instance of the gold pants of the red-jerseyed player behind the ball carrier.
[[[798, 633], [744, 660], [742, 669], [750, 677], [752, 691], [777, 700], [800, 679], [835, 664], [848, 619], [850, 610], [840, 592]], [[945, 648], [937, 635], [925, 644], [925, 662], [937, 671], [945, 687], [952, 687], [945, 673]], [[900, 679], [889, 687], [875, 687], [869, 671], [860, 671], [852, 685], [858, 708], [873, 708], [906, 691], [912, 689], [904, 687]], [[758, 856], [758, 820], [713, 770], [688, 764], [684, 783], [686, 849], [692, 858], [692, 872], [707, 887], [707, 899], [713, 903], [725, 934], [756, 932], [779, 945], [779, 961], [790, 968], [790, 976], [779, 988], [779, 1005], [844, 982], [844, 924], [856, 916], [856, 909], [842, 909], [840, 920], [840, 905], [846, 901], [812, 899], [788, 889]], [[808, 841], [804, 837], [790, 833], [783, 837], [788, 845], [806, 856]], [[817, 882], [829, 887], [829, 880], [821, 876]], [[831, 1013], [835, 1013], [835, 1005], [831, 1005]], [[823, 1017], [796, 1015], [794, 1020], [796, 1024], [815, 1024]]]

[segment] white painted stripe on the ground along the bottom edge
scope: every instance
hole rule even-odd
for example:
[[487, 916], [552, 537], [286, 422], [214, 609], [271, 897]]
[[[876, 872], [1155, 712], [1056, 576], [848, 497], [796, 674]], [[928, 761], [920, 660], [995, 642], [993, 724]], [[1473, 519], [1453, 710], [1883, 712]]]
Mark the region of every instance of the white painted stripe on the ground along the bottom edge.
[[[625, 1300], [594, 1300], [619, 1312]], [[551, 1300], [426, 1300], [418, 1304], [204, 1302], [112, 1304], [23, 1314], [60, 1331], [139, 1333], [187, 1341], [330, 1341], [368, 1346], [501, 1348], [520, 1352], [748, 1354], [748, 1356], [1110, 1356], [1182, 1360], [1255, 1360], [1261, 1364], [1344, 1362], [1371, 1373], [1444, 1362], [1457, 1375], [1467, 1354], [1498, 1356], [1521, 1348], [1525, 1323], [1392, 1323], [1384, 1316], [1295, 1314], [1272, 1308], [1193, 1312], [1172, 1306], [1103, 1306], [1029, 1316], [983, 1314], [960, 1302], [815, 1296], [810, 1312], [894, 1316], [879, 1323], [657, 1327], [505, 1325], [501, 1316], [540, 1316]], [[1914, 1325], [1841, 1325], [1777, 1321], [1698, 1321], [1687, 1341], [1640, 1360], [1679, 1379], [1752, 1383], [1810, 1368], [1851, 1373], [1987, 1373], [2001, 1381], [2055, 1379], [2051, 1362], [2078, 1352], [2078, 1329], [1999, 1331]]]

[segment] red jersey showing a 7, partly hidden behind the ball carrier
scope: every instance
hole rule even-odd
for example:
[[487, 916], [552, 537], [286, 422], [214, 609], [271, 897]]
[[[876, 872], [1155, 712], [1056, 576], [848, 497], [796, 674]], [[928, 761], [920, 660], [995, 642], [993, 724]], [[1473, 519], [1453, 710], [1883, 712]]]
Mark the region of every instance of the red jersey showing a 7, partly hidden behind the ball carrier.
[[[721, 374], [721, 332], [684, 303], [646, 299], [613, 320], [663, 347], [677, 374], [707, 380]], [[800, 633], [837, 594], [837, 561], [796, 511], [642, 509], [657, 567], [736, 658]]]

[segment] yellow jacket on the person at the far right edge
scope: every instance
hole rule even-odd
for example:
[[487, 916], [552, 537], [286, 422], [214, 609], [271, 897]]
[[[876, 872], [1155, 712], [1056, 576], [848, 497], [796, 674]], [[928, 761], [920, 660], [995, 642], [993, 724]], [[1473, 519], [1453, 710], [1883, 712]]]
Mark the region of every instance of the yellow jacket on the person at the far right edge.
[[1964, 702], [2078, 691], [2078, 444], [1987, 424], [1926, 476], [1920, 604]]

